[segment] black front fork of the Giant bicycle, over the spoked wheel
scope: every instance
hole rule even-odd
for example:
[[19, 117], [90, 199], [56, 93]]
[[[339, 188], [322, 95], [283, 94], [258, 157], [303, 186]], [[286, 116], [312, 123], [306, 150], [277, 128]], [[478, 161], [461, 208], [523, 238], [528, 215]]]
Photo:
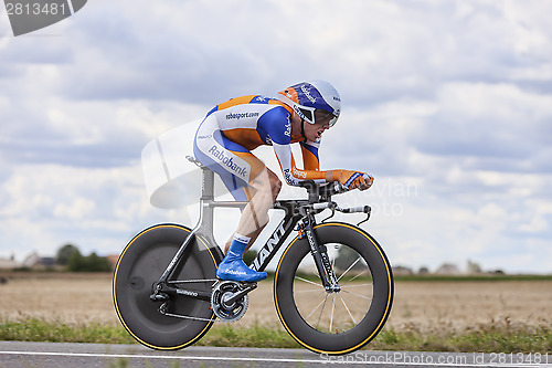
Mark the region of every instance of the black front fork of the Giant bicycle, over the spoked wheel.
[[312, 213], [307, 213], [305, 218], [297, 225], [297, 230], [299, 231], [299, 236], [302, 239], [305, 235], [307, 236], [307, 241], [310, 246], [310, 254], [315, 260], [316, 269], [318, 270], [318, 274], [322, 281], [323, 287], [327, 293], [338, 293], [341, 291], [341, 286], [339, 286], [338, 277], [333, 272], [333, 267], [330, 263], [330, 259], [328, 256], [328, 249], [323, 244], [318, 244], [318, 240], [315, 235], [314, 227], [316, 224], [315, 215]]

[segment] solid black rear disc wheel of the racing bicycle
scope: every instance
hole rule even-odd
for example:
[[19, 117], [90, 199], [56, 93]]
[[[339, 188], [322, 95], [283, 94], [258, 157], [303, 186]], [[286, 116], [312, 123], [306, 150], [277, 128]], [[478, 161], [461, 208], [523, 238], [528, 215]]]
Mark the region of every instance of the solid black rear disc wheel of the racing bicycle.
[[[199, 340], [211, 328], [215, 316], [208, 301], [172, 295], [168, 312], [204, 318], [197, 320], [162, 315], [160, 302], [149, 296], [153, 285], [190, 234], [189, 228], [158, 224], [137, 234], [121, 252], [113, 277], [113, 299], [119, 320], [140, 344], [161, 350], [174, 350]], [[199, 236], [189, 244], [183, 261], [171, 280], [213, 280], [221, 261], [216, 252]], [[193, 283], [193, 288], [211, 291], [212, 282]]]

